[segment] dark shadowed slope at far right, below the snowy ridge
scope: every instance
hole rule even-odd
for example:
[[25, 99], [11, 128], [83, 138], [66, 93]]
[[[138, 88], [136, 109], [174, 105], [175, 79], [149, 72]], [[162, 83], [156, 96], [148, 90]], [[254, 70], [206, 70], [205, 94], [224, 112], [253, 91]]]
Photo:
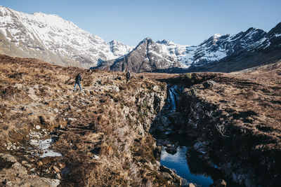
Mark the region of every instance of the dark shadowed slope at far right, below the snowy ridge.
[[245, 46], [237, 53], [232, 53], [218, 62], [192, 66], [192, 71], [239, 71], [261, 64], [268, 64], [281, 60], [281, 22], [263, 35], [263, 38], [249, 46]]

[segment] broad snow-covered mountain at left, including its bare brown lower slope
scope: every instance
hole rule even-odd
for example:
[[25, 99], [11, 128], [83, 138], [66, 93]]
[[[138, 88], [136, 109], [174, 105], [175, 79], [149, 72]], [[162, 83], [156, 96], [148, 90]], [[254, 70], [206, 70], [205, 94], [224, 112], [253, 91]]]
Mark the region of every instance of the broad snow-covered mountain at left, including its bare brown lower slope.
[[106, 43], [58, 15], [27, 14], [0, 6], [2, 54], [89, 68], [96, 66], [98, 59], [115, 59], [130, 49], [118, 41]]

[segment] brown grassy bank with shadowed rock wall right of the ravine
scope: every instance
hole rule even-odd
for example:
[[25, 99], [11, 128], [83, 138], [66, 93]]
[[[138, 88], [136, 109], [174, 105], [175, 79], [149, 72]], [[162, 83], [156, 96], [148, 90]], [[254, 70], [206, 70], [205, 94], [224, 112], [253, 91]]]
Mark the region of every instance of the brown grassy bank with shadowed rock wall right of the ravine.
[[[176, 111], [161, 111], [150, 132], [195, 137], [194, 151], [242, 186], [281, 184], [281, 61], [232, 74], [184, 74]], [[183, 90], [181, 92], [181, 90]]]

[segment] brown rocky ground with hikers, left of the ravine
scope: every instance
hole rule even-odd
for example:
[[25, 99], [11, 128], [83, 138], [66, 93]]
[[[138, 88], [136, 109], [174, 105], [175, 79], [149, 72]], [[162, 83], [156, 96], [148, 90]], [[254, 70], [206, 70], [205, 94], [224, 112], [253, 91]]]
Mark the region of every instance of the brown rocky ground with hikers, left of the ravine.
[[[135, 75], [126, 83], [124, 74], [5, 55], [0, 69], [1, 185], [181, 183], [155, 160], [148, 133], [164, 104], [164, 83]], [[78, 72], [83, 91], [73, 92]]]

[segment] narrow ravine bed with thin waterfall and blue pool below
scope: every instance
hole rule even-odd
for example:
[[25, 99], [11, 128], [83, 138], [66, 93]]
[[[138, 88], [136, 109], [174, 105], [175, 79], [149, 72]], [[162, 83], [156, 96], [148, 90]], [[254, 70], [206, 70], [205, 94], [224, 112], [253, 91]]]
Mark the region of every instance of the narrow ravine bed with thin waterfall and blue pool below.
[[157, 127], [164, 127], [154, 129], [156, 133], [152, 133], [157, 139], [157, 145], [162, 146], [160, 164], [181, 176], [182, 186], [188, 186], [189, 183], [203, 187], [210, 186], [214, 181], [223, 178], [223, 175], [216, 167], [202, 162], [200, 152], [193, 150], [195, 138], [178, 134], [176, 130], [176, 127], [180, 126], [176, 123], [181, 118], [177, 106], [182, 91], [181, 86], [167, 85], [166, 104], [155, 120]]

